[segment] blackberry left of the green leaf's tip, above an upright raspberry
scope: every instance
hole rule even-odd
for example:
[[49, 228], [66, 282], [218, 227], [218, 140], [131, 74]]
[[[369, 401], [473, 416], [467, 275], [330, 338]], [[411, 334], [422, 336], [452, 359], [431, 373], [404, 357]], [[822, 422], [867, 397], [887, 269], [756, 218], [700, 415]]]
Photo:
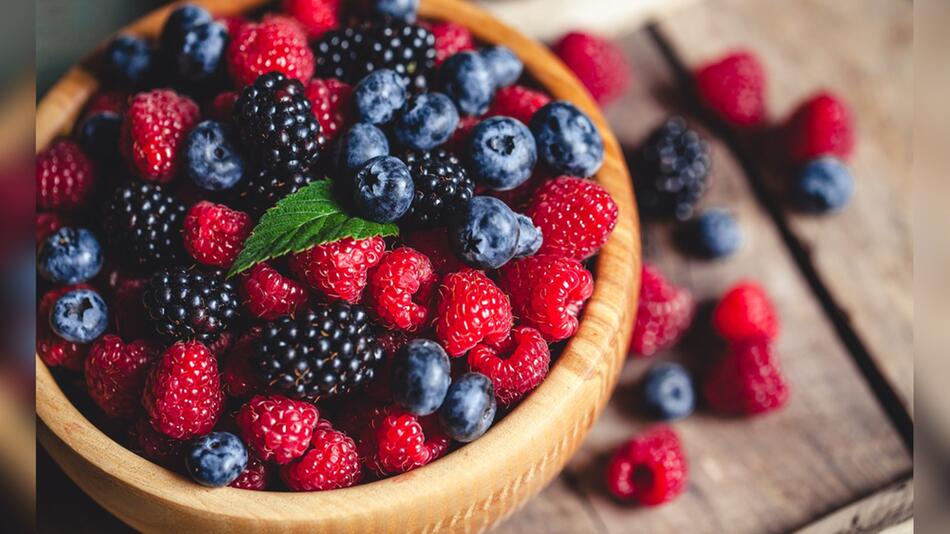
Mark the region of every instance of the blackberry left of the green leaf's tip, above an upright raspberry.
[[237, 291], [219, 270], [158, 271], [145, 283], [142, 300], [159, 335], [176, 341], [214, 341], [238, 313]]

